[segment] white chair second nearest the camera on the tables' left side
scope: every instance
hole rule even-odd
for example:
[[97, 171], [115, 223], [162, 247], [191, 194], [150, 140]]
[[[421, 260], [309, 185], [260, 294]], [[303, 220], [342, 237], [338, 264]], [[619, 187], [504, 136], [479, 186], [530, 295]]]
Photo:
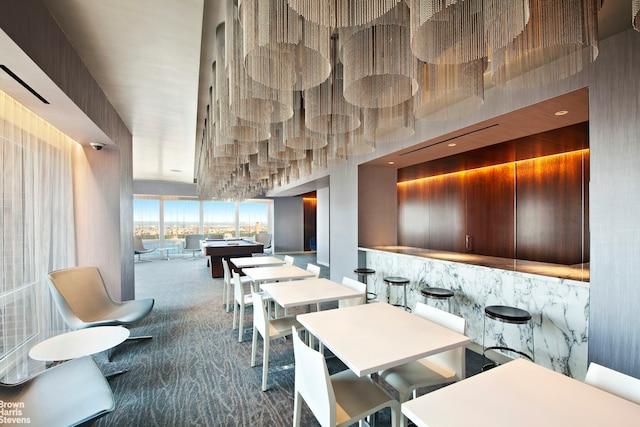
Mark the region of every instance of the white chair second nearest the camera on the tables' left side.
[[271, 341], [291, 335], [291, 327], [303, 329], [295, 316], [278, 317], [269, 320], [264, 307], [263, 295], [257, 292], [253, 294], [253, 342], [251, 343], [251, 367], [256, 366], [256, 352], [258, 347], [258, 334], [264, 342], [262, 348], [262, 391], [267, 391], [267, 375], [269, 372], [269, 348]]

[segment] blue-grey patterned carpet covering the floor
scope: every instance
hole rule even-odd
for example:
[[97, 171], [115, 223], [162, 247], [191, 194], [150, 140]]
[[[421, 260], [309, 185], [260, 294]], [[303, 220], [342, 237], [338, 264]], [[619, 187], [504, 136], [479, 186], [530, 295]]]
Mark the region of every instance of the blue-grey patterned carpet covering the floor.
[[[303, 268], [315, 261], [313, 254], [293, 256]], [[95, 425], [291, 425], [293, 369], [270, 372], [270, 388], [261, 391], [261, 340], [258, 365], [250, 367], [251, 310], [245, 318], [244, 342], [239, 343], [237, 331], [231, 330], [232, 314], [222, 306], [222, 279], [210, 277], [203, 258], [137, 263], [135, 270], [136, 298], [153, 297], [155, 306], [132, 335], [149, 334], [153, 339], [123, 344], [113, 362], [106, 353], [95, 356], [105, 373], [129, 369], [110, 380], [116, 409]], [[328, 268], [322, 267], [321, 274], [328, 277]], [[291, 340], [273, 342], [270, 367], [291, 363]], [[336, 358], [327, 363], [330, 373], [344, 369]], [[377, 425], [390, 425], [387, 412]], [[306, 407], [302, 425], [318, 425]]]

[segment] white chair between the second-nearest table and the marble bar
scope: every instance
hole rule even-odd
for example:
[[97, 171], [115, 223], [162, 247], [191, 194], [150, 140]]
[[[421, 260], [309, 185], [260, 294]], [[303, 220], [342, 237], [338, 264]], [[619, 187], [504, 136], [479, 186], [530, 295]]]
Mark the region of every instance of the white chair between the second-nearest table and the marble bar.
[[[438, 308], [417, 302], [414, 314], [449, 328], [460, 334], [465, 333], [466, 321]], [[398, 331], [402, 333], [402, 331]], [[433, 356], [406, 363], [379, 372], [380, 378], [398, 391], [401, 403], [416, 397], [416, 390], [439, 384], [448, 384], [465, 378], [465, 348], [458, 347]], [[402, 416], [402, 425], [407, 419]]]

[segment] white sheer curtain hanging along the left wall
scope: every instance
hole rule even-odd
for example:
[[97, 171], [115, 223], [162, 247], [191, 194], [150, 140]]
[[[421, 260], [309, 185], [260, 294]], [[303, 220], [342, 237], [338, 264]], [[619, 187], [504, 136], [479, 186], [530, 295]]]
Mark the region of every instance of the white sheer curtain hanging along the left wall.
[[47, 273], [75, 265], [71, 138], [0, 91], [0, 377], [30, 374], [27, 352], [65, 329]]

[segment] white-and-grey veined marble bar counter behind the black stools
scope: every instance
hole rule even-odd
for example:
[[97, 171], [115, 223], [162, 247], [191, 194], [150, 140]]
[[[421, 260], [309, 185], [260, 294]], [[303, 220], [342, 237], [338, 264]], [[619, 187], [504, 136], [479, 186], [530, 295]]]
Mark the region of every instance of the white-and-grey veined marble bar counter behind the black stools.
[[[451, 311], [467, 321], [467, 336], [482, 348], [484, 307], [510, 305], [529, 311], [534, 323], [533, 342], [523, 326], [486, 322], [486, 344], [519, 347], [535, 362], [582, 380], [587, 371], [589, 325], [588, 265], [561, 266], [456, 254], [403, 246], [358, 248], [366, 267], [376, 271], [369, 288], [379, 301], [390, 298], [400, 304], [401, 288], [387, 287], [387, 276], [402, 276], [407, 287], [407, 306], [427, 302], [420, 291], [440, 287], [454, 292]], [[362, 265], [361, 265], [362, 266]], [[446, 309], [446, 307], [444, 307]], [[400, 331], [399, 331], [400, 332]]]

